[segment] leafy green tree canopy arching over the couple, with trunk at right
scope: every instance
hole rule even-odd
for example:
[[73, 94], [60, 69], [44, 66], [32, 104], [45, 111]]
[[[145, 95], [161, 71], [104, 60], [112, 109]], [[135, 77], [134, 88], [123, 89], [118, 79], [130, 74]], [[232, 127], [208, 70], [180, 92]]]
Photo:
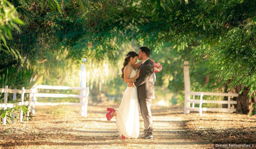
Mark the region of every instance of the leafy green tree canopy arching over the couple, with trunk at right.
[[80, 0], [62, 1], [59, 7], [57, 1], [41, 2], [24, 7], [33, 14], [31, 23], [12, 43], [30, 64], [44, 60], [49, 50], [67, 48], [68, 58], [99, 61], [114, 60], [118, 46], [132, 40], [156, 51], [168, 43], [177, 51], [191, 49], [208, 72], [223, 82], [231, 80], [229, 89], [240, 86], [238, 112], [246, 113], [255, 104], [255, 1]]

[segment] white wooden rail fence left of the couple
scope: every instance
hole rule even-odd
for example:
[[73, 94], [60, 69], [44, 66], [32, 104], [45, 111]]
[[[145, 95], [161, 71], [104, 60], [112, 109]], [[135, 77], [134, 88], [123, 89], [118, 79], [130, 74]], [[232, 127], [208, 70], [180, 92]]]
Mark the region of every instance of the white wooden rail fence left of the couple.
[[[56, 90], [80, 90], [80, 95], [73, 95], [73, 94], [50, 94], [50, 93], [38, 93], [37, 89], [56, 89]], [[87, 117], [87, 104], [88, 104], [88, 97], [89, 97], [89, 87], [70, 87], [70, 86], [50, 86], [50, 85], [38, 85], [32, 89], [25, 89], [22, 87], [21, 90], [19, 89], [8, 89], [8, 86], [5, 88], [0, 88], [0, 92], [4, 93], [4, 103], [0, 103], [0, 108], [13, 108], [19, 105], [28, 105], [29, 111], [27, 112], [27, 116], [29, 116], [29, 112], [35, 115], [35, 105], [76, 105], [80, 106], [79, 114]], [[21, 94], [21, 101], [15, 103], [7, 103], [8, 93], [13, 93], [13, 100], [16, 99], [17, 93]], [[29, 93], [29, 101], [24, 101], [24, 94]], [[54, 97], [54, 98], [63, 98], [63, 97], [72, 97], [72, 98], [80, 98], [79, 103], [74, 102], [57, 102], [57, 103], [42, 103], [36, 102], [36, 97]], [[12, 114], [14, 117], [14, 114]], [[20, 122], [23, 120], [23, 111], [20, 110]], [[14, 123], [14, 121], [12, 120]], [[3, 118], [3, 125], [6, 125], [6, 116]]]

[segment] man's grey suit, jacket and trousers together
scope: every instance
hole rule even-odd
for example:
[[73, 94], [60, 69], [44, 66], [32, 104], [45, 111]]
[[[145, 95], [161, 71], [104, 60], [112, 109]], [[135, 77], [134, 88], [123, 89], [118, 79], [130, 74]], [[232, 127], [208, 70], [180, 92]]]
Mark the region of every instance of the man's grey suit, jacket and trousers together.
[[153, 135], [153, 121], [150, 110], [151, 99], [155, 99], [153, 64], [148, 59], [139, 69], [141, 69], [141, 72], [139, 73], [139, 78], [134, 82], [134, 85], [138, 89], [139, 106], [145, 126], [144, 134]]

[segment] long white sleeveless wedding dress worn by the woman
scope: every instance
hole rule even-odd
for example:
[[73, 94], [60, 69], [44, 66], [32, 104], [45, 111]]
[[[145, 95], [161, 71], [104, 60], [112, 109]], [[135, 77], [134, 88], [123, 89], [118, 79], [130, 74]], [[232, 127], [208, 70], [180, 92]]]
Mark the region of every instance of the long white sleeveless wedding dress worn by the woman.
[[[129, 67], [129, 66], [127, 66]], [[131, 68], [131, 67], [130, 67]], [[132, 70], [130, 78], [136, 76], [136, 70]], [[136, 81], [136, 80], [135, 80]], [[134, 81], [134, 82], [135, 82]], [[139, 102], [138, 90], [135, 87], [127, 87], [119, 109], [116, 110], [116, 124], [120, 137], [138, 138], [139, 136]]]

